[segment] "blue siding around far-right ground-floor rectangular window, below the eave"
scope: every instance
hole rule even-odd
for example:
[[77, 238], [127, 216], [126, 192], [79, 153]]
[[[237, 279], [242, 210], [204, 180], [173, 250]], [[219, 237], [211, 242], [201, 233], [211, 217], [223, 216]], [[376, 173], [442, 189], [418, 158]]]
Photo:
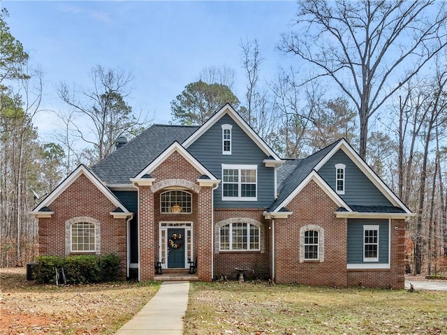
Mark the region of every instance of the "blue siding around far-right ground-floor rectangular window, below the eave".
[[388, 219], [348, 219], [348, 264], [363, 262], [363, 226], [379, 225], [379, 262], [371, 264], [387, 264], [389, 256], [390, 223]]

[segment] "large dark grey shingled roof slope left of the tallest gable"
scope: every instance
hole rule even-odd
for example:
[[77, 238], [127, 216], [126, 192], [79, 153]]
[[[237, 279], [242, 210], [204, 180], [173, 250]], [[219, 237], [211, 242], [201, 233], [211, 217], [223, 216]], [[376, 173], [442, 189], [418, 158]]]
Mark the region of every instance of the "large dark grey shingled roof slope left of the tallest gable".
[[154, 124], [93, 165], [91, 170], [108, 185], [131, 184], [129, 179], [154, 161], [170, 144], [184, 142], [198, 128]]

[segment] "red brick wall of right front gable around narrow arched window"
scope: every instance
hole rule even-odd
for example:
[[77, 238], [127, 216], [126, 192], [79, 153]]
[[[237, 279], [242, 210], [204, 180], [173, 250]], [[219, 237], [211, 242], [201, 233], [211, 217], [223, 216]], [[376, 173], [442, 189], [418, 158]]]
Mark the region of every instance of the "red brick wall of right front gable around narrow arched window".
[[[345, 218], [336, 218], [338, 206], [314, 182], [287, 205], [293, 214], [275, 220], [275, 274], [277, 283], [346, 286]], [[318, 225], [324, 229], [324, 261], [300, 262], [300, 228]]]

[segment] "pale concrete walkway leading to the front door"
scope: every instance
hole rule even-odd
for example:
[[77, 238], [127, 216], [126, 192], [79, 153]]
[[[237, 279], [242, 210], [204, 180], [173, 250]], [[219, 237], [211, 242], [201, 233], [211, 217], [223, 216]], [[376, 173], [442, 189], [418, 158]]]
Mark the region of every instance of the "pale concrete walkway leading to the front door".
[[115, 335], [183, 335], [189, 282], [165, 281], [156, 295]]

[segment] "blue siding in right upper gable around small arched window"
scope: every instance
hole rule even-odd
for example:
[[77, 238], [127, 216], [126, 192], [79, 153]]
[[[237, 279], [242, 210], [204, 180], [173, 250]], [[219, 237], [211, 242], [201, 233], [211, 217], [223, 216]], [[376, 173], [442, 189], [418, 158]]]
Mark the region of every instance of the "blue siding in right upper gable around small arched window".
[[362, 170], [351, 161], [351, 158], [339, 149], [328, 162], [323, 165], [318, 174], [335, 191], [335, 165], [346, 165], [344, 170], [344, 194], [339, 195], [347, 204], [363, 206], [393, 206], [374, 184], [363, 174]]

